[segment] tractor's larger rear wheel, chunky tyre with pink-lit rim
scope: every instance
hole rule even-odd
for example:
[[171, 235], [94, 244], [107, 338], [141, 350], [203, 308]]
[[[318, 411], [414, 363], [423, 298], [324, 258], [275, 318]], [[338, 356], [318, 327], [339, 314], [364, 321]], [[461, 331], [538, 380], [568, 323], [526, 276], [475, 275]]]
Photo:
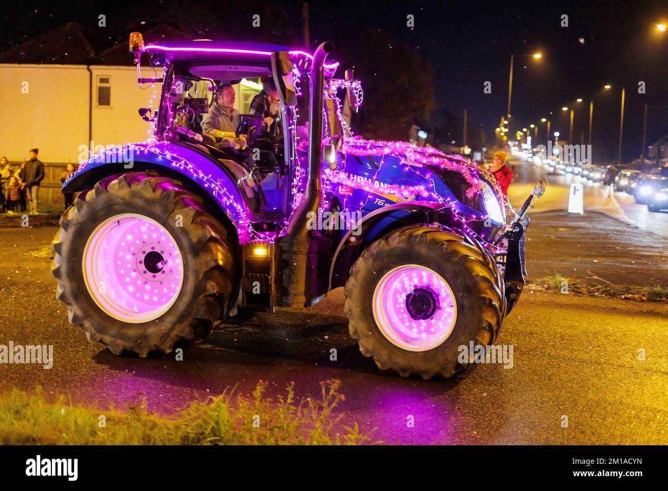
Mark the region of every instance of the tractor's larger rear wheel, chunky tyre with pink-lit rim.
[[134, 172], [84, 190], [51, 247], [69, 321], [140, 357], [208, 335], [238, 292], [238, 245], [176, 180]]

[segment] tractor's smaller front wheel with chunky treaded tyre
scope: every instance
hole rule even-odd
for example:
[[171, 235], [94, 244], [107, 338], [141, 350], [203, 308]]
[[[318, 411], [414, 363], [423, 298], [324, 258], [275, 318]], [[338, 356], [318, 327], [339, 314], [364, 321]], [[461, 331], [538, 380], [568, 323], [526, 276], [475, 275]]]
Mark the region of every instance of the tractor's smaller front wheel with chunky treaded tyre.
[[[417, 267], [415, 271], [418, 271], [418, 278], [425, 275], [427, 280], [424, 281], [425, 285], [420, 281], [409, 285], [411, 293], [403, 295], [397, 301], [397, 307], [393, 307], [396, 312], [401, 313], [394, 318], [406, 317], [406, 313], [409, 313], [412, 319], [407, 318], [408, 334], [412, 335], [410, 331], [415, 331], [416, 324], [420, 329], [423, 329], [421, 325], [426, 325], [426, 331], [418, 334], [427, 340], [434, 335], [428, 332], [430, 327], [434, 326], [430, 321], [443, 321], [444, 325], [448, 326], [450, 319], [454, 325], [448, 326], [452, 331], [446, 339], [434, 337], [431, 344], [423, 339], [406, 341], [407, 338], [401, 338], [401, 333], [393, 335], [391, 329], [396, 331], [396, 328], [391, 327], [391, 322], [388, 321], [392, 318], [391, 315], [388, 317], [377, 313], [379, 309], [383, 309], [382, 305], [387, 304], [379, 303], [382, 297], [378, 297], [378, 292], [385, 291], [383, 284], [387, 279], [393, 278], [394, 271], [401, 272], [402, 267], [407, 265]], [[451, 377], [469, 366], [468, 363], [458, 361], [460, 346], [464, 345], [468, 350], [470, 341], [473, 341], [474, 346], [488, 345], [498, 335], [505, 311], [503, 286], [499, 279], [500, 275], [490, 255], [480, 251], [455, 232], [434, 226], [411, 227], [392, 232], [370, 244], [351, 269], [344, 291], [350, 335], [357, 339], [361, 353], [373, 357], [380, 369], [393, 369], [402, 377], [411, 374], [420, 375], [423, 379], [430, 379], [438, 374]], [[448, 289], [438, 287], [443, 283], [448, 285]], [[429, 307], [430, 300], [427, 295], [426, 302], [417, 303], [423, 307], [427, 305], [426, 310], [423, 309], [422, 313], [413, 311], [415, 304], [409, 305], [409, 297], [413, 295], [412, 299], [415, 300], [416, 292], [422, 291], [424, 295], [424, 292], [430, 289], [433, 291], [434, 288], [445, 292], [435, 295], [436, 309], [433, 308], [434, 305]], [[397, 292], [399, 290], [393, 291], [393, 294]], [[395, 296], [397, 295], [386, 298]], [[439, 307], [450, 307], [450, 303], [438, 305], [438, 302], [444, 300], [454, 303], [454, 321], [448, 317], [432, 319], [439, 315], [438, 311], [442, 311]], [[404, 302], [404, 305], [401, 302]], [[432, 311], [429, 311], [429, 308], [432, 308]], [[420, 315], [422, 317], [419, 317]], [[432, 317], [429, 317], [430, 315]], [[426, 317], [427, 320], [420, 324]], [[437, 327], [436, 334], [438, 329]]]

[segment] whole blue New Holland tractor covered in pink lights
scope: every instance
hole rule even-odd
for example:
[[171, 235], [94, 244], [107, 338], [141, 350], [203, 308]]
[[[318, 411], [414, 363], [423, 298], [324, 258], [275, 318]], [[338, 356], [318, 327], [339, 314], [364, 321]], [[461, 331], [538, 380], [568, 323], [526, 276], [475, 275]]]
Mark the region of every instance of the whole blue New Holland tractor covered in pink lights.
[[[335, 77], [332, 49], [131, 35], [138, 81], [161, 90], [140, 110], [152, 135], [79, 166], [52, 246], [57, 299], [90, 341], [170, 353], [240, 307], [311, 306], [344, 287], [350, 334], [381, 369], [450, 377], [470, 365], [460, 347], [494, 342], [544, 187], [507, 220], [468, 160], [354, 137], [345, 110], [363, 94], [351, 71]], [[228, 114], [224, 88], [245, 109], [259, 81], [273, 117]], [[234, 130], [207, 130], [223, 112]]]

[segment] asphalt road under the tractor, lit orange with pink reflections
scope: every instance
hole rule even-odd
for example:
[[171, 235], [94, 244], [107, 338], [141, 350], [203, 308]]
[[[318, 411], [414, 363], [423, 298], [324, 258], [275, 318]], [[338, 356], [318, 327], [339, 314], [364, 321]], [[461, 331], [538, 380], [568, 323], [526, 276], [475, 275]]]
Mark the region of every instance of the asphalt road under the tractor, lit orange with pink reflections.
[[[559, 215], [544, 214], [541, 225], [536, 214], [534, 236], [550, 237], [547, 218]], [[526, 291], [497, 341], [514, 347], [513, 367], [483, 364], [445, 381], [401, 379], [362, 357], [347, 335], [341, 289], [308, 311], [232, 319], [184, 361], [116, 357], [88, 343], [54, 299], [49, 260], [32, 254], [54, 232], [0, 229], [0, 344], [52, 344], [55, 358], [52, 369], [0, 365], [0, 391], [41, 385], [48, 397], [100, 408], [142, 393], [149, 410], [168, 414], [235, 385], [249, 394], [259, 379], [273, 394], [295, 381], [305, 396], [337, 378], [343, 422], [375, 428], [373, 438], [389, 444], [668, 444], [665, 305]], [[530, 271], [549, 272], [538, 259]]]

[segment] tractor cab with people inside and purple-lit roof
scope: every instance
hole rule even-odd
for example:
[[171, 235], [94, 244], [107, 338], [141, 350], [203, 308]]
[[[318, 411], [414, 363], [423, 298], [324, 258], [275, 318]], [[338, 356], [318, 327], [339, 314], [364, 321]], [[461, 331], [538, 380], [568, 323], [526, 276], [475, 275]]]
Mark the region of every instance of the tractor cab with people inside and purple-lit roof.
[[[303, 173], [299, 153], [305, 153], [297, 148], [308, 143], [308, 90], [300, 86], [308, 84], [303, 81], [311, 55], [281, 45], [230, 41], [144, 47], [135, 39], [133, 47], [131, 38], [130, 45], [140, 85], [162, 81], [155, 140], [209, 156], [238, 183], [253, 226], [267, 236], [277, 234], [293, 208], [293, 183]], [[153, 70], [162, 69], [162, 77], [141, 76], [142, 55], [148, 55]], [[336, 67], [326, 65], [325, 75]], [[216, 91], [226, 86], [231, 97], [221, 106]], [[216, 128], [218, 121], [224, 127]]]

